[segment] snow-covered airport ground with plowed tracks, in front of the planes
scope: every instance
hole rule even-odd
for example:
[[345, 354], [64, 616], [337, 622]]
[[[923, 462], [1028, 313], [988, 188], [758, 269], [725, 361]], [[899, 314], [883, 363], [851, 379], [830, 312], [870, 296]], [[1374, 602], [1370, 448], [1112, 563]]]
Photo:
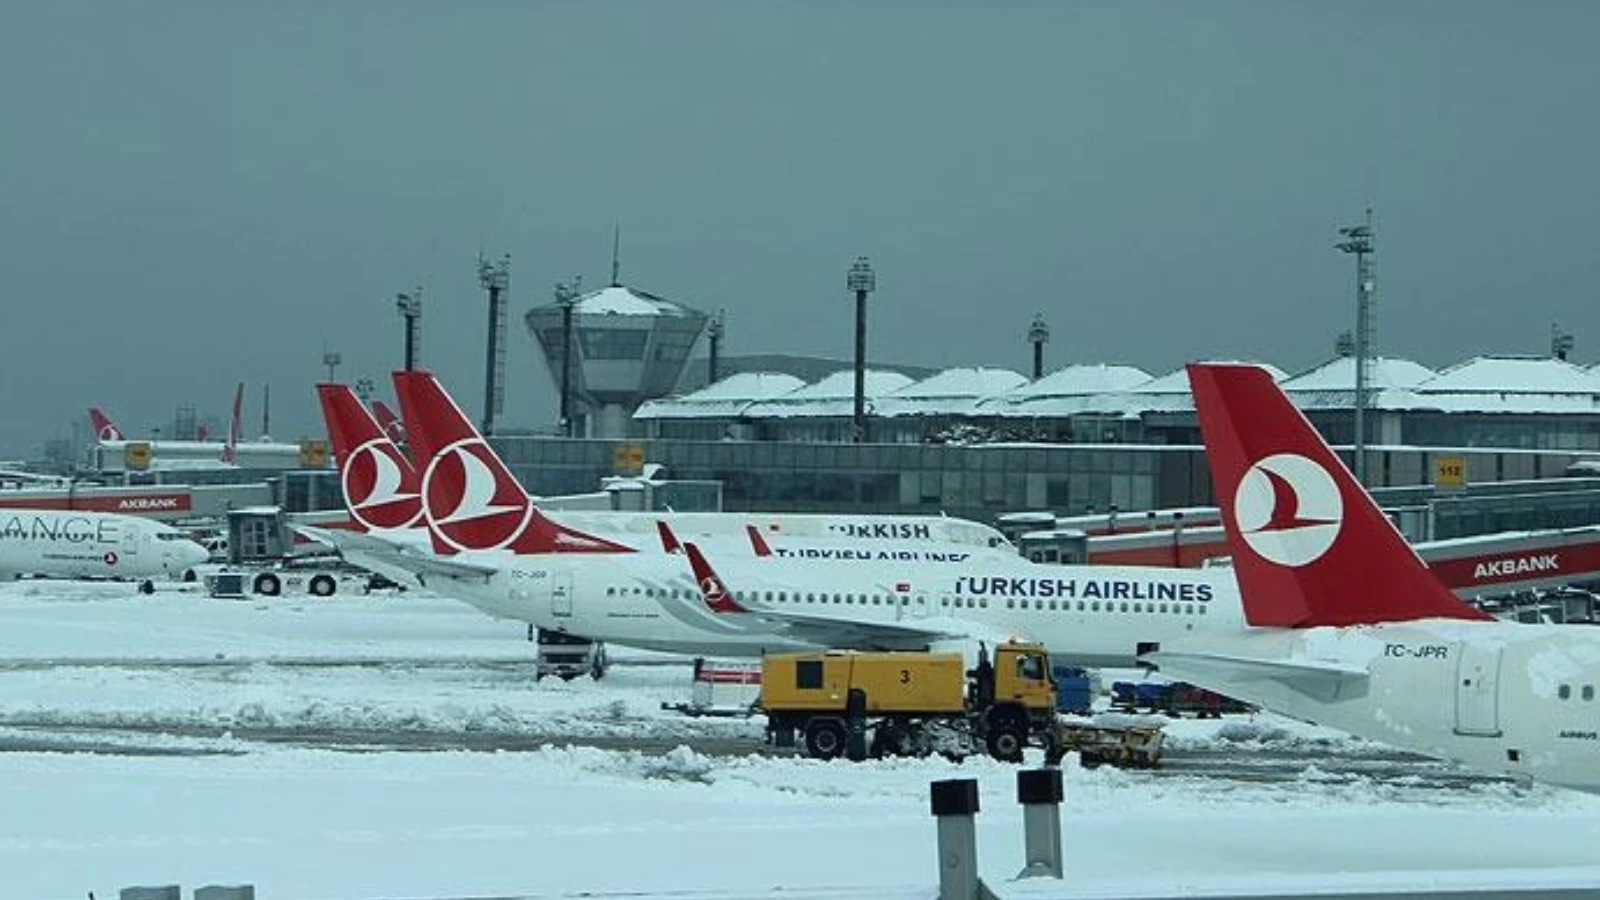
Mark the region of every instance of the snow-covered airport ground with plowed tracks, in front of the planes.
[[[1600, 886], [1600, 799], [1336, 772], [1381, 751], [1270, 716], [1173, 722], [1174, 757], [1328, 764], [1288, 781], [1066, 765], [1067, 879], [1016, 882], [1013, 767], [670, 749], [754, 748], [760, 722], [662, 711], [688, 669], [656, 655], [571, 684], [534, 684], [530, 655], [523, 626], [443, 599], [3, 585], [0, 900], [243, 882], [274, 900], [926, 898], [939, 778], [979, 781], [1002, 897]], [[571, 746], [587, 737], [606, 749]]]

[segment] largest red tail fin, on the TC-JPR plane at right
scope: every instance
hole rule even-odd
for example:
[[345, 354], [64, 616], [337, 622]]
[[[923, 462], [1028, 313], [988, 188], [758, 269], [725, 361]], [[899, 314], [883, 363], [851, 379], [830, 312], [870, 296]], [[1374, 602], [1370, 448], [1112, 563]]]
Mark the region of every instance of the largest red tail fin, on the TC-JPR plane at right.
[[1488, 618], [1438, 583], [1264, 368], [1194, 364], [1189, 384], [1250, 625]]

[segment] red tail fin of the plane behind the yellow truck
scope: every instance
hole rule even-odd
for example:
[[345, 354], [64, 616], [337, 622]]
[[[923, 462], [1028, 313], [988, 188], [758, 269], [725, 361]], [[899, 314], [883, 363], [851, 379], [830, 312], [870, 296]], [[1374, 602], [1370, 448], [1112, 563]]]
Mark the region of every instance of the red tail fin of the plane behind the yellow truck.
[[422, 514], [440, 552], [630, 552], [544, 517], [461, 407], [427, 372], [395, 372], [395, 394], [422, 469]]

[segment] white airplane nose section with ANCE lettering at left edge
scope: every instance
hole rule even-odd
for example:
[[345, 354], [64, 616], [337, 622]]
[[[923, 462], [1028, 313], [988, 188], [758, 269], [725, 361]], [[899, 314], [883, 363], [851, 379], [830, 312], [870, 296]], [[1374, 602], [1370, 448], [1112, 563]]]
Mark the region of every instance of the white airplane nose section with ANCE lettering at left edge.
[[0, 578], [184, 578], [210, 557], [171, 525], [82, 509], [0, 511]]

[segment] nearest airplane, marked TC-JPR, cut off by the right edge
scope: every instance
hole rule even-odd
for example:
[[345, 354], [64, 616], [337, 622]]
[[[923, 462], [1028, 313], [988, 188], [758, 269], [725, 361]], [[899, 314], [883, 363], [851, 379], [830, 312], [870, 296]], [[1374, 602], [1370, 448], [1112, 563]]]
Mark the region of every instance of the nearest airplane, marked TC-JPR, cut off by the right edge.
[[1357, 737], [1600, 791], [1600, 631], [1458, 601], [1266, 370], [1195, 364], [1189, 380], [1250, 628], [1142, 661]]

